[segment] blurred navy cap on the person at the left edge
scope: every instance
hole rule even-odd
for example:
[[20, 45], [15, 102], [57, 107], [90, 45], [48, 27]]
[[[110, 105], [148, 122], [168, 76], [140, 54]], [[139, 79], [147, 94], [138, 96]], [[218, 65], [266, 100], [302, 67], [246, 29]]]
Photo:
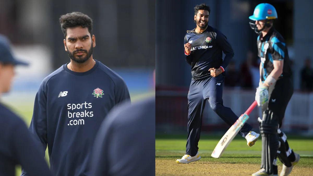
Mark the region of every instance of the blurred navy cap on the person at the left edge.
[[9, 39], [0, 34], [0, 63], [12, 64], [12, 65], [29, 65], [27, 62], [16, 60], [13, 56]]

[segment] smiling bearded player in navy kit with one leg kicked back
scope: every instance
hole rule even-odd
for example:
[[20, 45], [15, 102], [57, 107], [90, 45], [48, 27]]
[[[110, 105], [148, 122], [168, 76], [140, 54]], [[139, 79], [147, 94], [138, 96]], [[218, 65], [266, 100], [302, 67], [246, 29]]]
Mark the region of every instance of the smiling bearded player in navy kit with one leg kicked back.
[[[202, 115], [208, 100], [212, 110], [231, 127], [238, 116], [223, 105], [224, 69], [234, 56], [227, 38], [217, 29], [208, 26], [210, 8], [206, 4], [197, 5], [194, 21], [197, 27], [185, 35], [186, 61], [191, 65], [192, 80], [188, 93], [188, 125], [186, 154], [177, 163], [190, 163], [201, 157], [198, 151]], [[226, 55], [223, 60], [223, 53]], [[240, 130], [251, 147], [259, 134], [251, 131], [249, 124]]]

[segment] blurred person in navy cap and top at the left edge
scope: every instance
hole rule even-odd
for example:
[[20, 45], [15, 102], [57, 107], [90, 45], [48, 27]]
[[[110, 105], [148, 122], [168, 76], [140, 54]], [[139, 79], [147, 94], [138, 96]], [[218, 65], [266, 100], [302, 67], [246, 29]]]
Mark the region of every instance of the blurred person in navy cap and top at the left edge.
[[[10, 41], [0, 34], [0, 97], [11, 89], [14, 67], [28, 65], [13, 57]], [[15, 176], [21, 165], [32, 176], [51, 176], [42, 150], [36, 145], [23, 120], [0, 103], [0, 175]]]

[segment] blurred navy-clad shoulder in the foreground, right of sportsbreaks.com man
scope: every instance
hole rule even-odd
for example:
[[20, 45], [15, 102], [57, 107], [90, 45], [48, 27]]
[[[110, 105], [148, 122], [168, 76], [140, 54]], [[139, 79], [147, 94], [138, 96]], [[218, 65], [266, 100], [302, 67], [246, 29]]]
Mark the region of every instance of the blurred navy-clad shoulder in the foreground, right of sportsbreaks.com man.
[[155, 96], [115, 106], [101, 124], [92, 157], [93, 176], [155, 175]]

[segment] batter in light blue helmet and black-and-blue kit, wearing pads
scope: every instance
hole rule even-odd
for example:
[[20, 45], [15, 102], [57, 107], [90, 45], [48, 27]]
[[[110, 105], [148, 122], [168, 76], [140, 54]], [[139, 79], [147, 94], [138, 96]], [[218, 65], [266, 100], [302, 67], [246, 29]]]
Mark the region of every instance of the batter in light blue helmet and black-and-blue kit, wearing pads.
[[300, 160], [300, 155], [290, 149], [286, 135], [279, 129], [293, 94], [288, 50], [284, 38], [273, 27], [277, 12], [272, 5], [257, 5], [249, 19], [255, 21], [250, 22], [250, 26], [259, 34], [257, 47], [261, 58], [261, 79], [255, 100], [263, 112], [262, 119], [258, 119], [262, 134], [261, 169], [252, 175], [277, 175], [278, 157], [284, 164], [280, 176], [286, 176]]

